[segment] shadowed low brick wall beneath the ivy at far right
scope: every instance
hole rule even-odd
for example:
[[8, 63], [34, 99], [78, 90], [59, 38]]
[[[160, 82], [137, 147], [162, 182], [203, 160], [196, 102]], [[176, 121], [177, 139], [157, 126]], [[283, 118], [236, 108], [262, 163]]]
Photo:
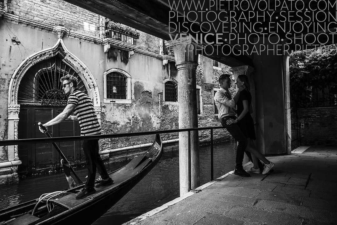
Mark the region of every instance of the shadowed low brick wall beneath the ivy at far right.
[[300, 108], [297, 115], [300, 145], [337, 146], [337, 107]]

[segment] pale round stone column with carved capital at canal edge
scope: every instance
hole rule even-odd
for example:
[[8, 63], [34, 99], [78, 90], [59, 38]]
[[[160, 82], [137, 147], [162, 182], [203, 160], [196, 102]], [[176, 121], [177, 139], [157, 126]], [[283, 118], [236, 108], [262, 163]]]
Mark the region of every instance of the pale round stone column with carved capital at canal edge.
[[[173, 47], [176, 66], [178, 69], [178, 102], [179, 102], [179, 129], [197, 128], [198, 116], [196, 108], [196, 79], [195, 71], [198, 65], [198, 52], [201, 46], [193, 43], [186, 36], [174, 43]], [[199, 171], [199, 141], [198, 132], [191, 132], [191, 189], [200, 186]], [[179, 133], [179, 175], [180, 196], [188, 192], [188, 133]]]

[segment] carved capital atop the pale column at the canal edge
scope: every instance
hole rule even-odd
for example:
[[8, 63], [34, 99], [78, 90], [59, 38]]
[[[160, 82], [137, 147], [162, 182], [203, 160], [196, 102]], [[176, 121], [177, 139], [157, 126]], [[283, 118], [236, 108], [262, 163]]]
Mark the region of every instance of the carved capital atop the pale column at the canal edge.
[[198, 62], [199, 52], [203, 47], [194, 41], [189, 36], [182, 36], [177, 40], [168, 41], [170, 47], [173, 48], [176, 65], [187, 62]]

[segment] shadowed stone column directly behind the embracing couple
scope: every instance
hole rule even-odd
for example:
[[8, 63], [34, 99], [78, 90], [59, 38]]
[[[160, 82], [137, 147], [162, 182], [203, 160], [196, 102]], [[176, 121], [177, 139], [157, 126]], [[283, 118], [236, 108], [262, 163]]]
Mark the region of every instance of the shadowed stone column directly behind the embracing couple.
[[[243, 74], [246, 75], [249, 79], [249, 85], [250, 85], [250, 93], [252, 95], [252, 107], [253, 107], [253, 113], [252, 113], [252, 117], [255, 120], [255, 79], [253, 79], [253, 76], [251, 75], [251, 73], [254, 71], [254, 68], [249, 66], [249, 65], [243, 65], [243, 66], [234, 66], [231, 69], [229, 69], [229, 71], [231, 71], [234, 75], [234, 82], [236, 82], [236, 79], [238, 78], [239, 75]], [[236, 89], [238, 91], [238, 88]], [[239, 116], [239, 115], [238, 115]], [[247, 155], [245, 154], [244, 158], [243, 158], [243, 164], [248, 163], [249, 159], [247, 157]]]

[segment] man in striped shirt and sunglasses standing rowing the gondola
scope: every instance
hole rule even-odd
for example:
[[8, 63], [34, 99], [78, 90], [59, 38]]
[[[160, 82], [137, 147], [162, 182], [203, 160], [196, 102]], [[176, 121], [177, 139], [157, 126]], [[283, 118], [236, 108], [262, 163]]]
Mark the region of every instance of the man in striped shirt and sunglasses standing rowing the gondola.
[[[72, 75], [65, 75], [61, 78], [61, 82], [65, 94], [70, 94], [67, 106], [63, 112], [42, 125], [48, 130], [48, 126], [58, 124], [64, 120], [79, 120], [81, 136], [100, 135], [101, 127], [98, 123], [92, 100], [87, 94], [77, 88], [77, 78]], [[72, 112], [74, 112], [75, 116], [70, 115]], [[45, 132], [41, 128], [39, 129], [42, 133]], [[86, 158], [88, 179], [82, 191], [76, 196], [76, 199], [85, 198], [96, 192], [94, 188], [96, 169], [101, 175], [102, 181], [95, 187], [99, 188], [105, 185], [111, 185], [114, 182], [106, 171], [103, 160], [98, 153], [98, 139], [84, 140], [82, 147]]]

